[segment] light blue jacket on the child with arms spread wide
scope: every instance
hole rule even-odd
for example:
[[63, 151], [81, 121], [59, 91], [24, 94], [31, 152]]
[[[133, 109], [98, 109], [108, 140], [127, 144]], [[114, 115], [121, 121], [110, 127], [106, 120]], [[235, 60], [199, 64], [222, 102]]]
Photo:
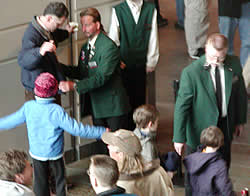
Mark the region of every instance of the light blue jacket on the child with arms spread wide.
[[101, 138], [104, 127], [77, 123], [54, 98], [38, 98], [26, 102], [18, 111], [0, 118], [0, 130], [12, 129], [26, 122], [30, 155], [38, 160], [60, 158], [64, 147], [64, 130], [74, 136]]

